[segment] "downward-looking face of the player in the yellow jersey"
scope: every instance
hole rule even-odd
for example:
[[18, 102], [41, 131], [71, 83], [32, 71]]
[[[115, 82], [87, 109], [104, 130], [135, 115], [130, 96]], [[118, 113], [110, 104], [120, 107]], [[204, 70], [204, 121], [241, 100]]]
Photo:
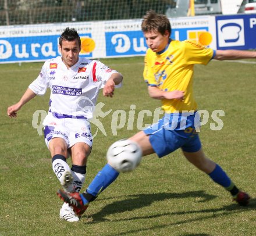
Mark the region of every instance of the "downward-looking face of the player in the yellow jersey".
[[148, 47], [153, 52], [161, 52], [168, 44], [169, 33], [167, 30], [163, 35], [158, 31], [148, 31], [144, 32], [144, 37]]

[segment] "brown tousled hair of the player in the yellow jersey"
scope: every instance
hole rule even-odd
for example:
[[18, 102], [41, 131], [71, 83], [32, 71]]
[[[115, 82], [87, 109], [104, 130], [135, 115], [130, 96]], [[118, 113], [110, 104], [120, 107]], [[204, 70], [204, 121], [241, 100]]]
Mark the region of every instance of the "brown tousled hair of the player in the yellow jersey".
[[154, 10], [149, 10], [143, 17], [141, 30], [143, 32], [158, 31], [162, 35], [165, 34], [166, 30], [169, 33], [172, 32], [168, 17], [165, 15], [157, 14]]

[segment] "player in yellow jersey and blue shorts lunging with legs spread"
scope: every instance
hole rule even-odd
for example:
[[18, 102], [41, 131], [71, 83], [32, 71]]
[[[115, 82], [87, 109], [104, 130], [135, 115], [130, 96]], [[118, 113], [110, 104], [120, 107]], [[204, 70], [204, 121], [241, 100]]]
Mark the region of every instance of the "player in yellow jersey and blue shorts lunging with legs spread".
[[[144, 80], [148, 84], [150, 97], [162, 101], [165, 115], [157, 124], [138, 132], [130, 140], [137, 142], [143, 156], [157, 153], [162, 158], [182, 148], [189, 162], [208, 174], [215, 183], [222, 185], [237, 203], [247, 205], [250, 196], [240, 191], [225, 171], [202, 151], [199, 135], [195, 132], [198, 117], [193, 95], [193, 71], [195, 64], [207, 65], [211, 59], [256, 58], [256, 52], [214, 51], [191, 41], [171, 40], [168, 18], [152, 10], [144, 16], [141, 28], [148, 45]], [[176, 122], [173, 122], [175, 119]], [[59, 190], [58, 195], [73, 206], [77, 214], [82, 214], [88, 204], [118, 175], [119, 172], [111, 163], [107, 163], [83, 194]]]

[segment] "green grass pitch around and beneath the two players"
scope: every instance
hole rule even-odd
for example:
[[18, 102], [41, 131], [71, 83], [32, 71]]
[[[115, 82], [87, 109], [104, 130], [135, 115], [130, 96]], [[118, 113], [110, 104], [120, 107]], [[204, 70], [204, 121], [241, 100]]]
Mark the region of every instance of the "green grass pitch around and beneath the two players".
[[[114, 98], [99, 95], [98, 102], [105, 103], [102, 110], [125, 110], [128, 116], [130, 105], [136, 105], [137, 117], [140, 110], [153, 112], [160, 106], [147, 94], [143, 58], [102, 62], [124, 76]], [[42, 63], [0, 65], [0, 235], [256, 235], [256, 60], [247, 62], [251, 63], [212, 61], [196, 66], [194, 88], [198, 108], [210, 114], [200, 134], [204, 151], [251, 195], [248, 207], [232, 202], [225, 189], [195, 169], [178, 150], [162, 159], [147, 156], [136, 170], [120, 174], [79, 223], [59, 219], [62, 202], [56, 190], [61, 185], [44, 138], [32, 126], [33, 113], [48, 110], [49, 91], [27, 103], [16, 119], [6, 115], [8, 106], [37, 77]], [[214, 110], [225, 112], [219, 131], [210, 128], [215, 123]], [[105, 165], [108, 146], [138, 131], [135, 119], [133, 130], [127, 130], [126, 123], [113, 135], [113, 111], [101, 120], [107, 136], [99, 131], [95, 137], [83, 191]], [[145, 116], [144, 124], [151, 122], [152, 117]]]

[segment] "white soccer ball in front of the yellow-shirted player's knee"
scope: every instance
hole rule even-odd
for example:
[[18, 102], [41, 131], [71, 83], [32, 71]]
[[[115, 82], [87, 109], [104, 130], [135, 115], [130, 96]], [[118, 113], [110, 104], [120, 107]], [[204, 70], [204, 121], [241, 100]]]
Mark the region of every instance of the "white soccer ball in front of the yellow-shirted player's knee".
[[140, 164], [141, 156], [141, 148], [131, 140], [114, 142], [106, 153], [109, 165], [118, 172], [134, 170]]

